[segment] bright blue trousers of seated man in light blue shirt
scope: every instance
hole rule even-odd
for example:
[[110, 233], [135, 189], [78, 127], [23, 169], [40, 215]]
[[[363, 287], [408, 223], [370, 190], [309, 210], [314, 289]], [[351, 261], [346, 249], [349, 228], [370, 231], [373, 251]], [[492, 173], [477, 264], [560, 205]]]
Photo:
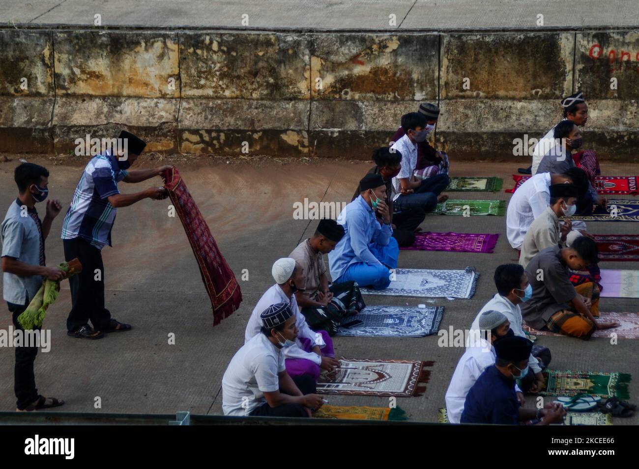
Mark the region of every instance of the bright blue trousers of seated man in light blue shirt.
[[[371, 243], [368, 248], [374, 257], [391, 269], [397, 267], [399, 257], [399, 245], [394, 237], [391, 237], [387, 246], [379, 246]], [[366, 262], [356, 262], [346, 268], [346, 271], [334, 283], [356, 281], [360, 287], [372, 287], [375, 290], [383, 290], [390, 285], [390, 271], [384, 265], [371, 265]]]

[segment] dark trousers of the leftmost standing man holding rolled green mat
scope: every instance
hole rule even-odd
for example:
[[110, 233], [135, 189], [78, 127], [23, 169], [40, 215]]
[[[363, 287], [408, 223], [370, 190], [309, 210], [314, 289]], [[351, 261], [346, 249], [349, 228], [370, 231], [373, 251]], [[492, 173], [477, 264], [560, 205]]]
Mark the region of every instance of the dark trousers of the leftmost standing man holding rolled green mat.
[[[7, 302], [7, 306], [13, 314], [13, 327], [15, 327], [16, 331], [22, 331], [24, 334], [24, 329], [18, 322], [18, 316], [29, 306], [29, 299], [27, 299], [26, 304]], [[35, 327], [33, 330], [35, 331], [36, 329], [40, 331], [40, 327]], [[13, 340], [13, 338], [9, 339]], [[38, 355], [38, 347], [35, 346], [36, 344], [33, 347], [26, 345], [27, 341], [24, 340], [23, 336], [22, 346], [14, 347], [13, 391], [15, 391], [15, 397], [18, 399], [17, 408], [20, 410], [24, 410], [24, 408], [33, 404], [39, 397], [36, 389], [36, 378], [33, 375], [33, 362], [35, 362], [36, 355]]]

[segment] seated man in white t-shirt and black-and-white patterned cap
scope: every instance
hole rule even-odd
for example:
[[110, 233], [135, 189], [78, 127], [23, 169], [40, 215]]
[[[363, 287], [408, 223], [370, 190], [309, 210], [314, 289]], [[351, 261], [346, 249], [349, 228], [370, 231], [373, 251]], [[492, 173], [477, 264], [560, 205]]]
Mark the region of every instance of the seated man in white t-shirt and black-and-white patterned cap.
[[284, 351], [298, 335], [291, 307], [288, 302], [272, 304], [259, 319], [259, 334], [236, 352], [222, 378], [224, 415], [311, 417], [323, 403], [314, 380], [291, 378], [284, 365]]

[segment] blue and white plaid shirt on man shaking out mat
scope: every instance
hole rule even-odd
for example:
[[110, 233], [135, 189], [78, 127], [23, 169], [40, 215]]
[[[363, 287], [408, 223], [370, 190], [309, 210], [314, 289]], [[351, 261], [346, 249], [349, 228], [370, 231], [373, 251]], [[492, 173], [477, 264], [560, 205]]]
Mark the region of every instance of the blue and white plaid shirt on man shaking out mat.
[[107, 244], [111, 246], [111, 228], [117, 209], [109, 204], [108, 197], [119, 194], [118, 182], [127, 174], [108, 151], [91, 158], [66, 212], [62, 239], [81, 237], [98, 249]]

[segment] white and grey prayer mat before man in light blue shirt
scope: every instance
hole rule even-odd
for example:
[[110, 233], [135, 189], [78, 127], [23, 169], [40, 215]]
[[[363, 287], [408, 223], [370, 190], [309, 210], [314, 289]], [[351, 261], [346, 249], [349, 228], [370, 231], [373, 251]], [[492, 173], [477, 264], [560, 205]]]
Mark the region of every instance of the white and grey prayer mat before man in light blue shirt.
[[463, 271], [395, 269], [388, 288], [362, 288], [362, 295], [390, 295], [431, 298], [471, 298], [479, 272], [472, 267]]

